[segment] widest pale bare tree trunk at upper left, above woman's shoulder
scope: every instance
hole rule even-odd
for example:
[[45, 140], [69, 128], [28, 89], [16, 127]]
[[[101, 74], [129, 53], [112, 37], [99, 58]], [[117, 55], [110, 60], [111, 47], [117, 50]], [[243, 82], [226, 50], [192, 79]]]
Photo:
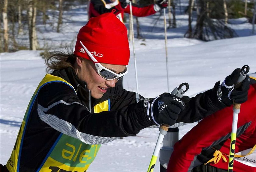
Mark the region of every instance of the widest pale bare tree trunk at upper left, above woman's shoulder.
[[37, 44], [37, 33], [36, 33], [36, 5], [35, 1], [29, 0], [28, 2], [28, 27], [29, 27], [29, 44], [30, 50], [36, 50]]

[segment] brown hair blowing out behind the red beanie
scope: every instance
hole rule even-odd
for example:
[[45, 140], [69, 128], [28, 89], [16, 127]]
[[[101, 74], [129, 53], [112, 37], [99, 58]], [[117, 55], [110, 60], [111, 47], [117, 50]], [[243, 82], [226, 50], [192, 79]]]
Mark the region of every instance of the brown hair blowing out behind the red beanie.
[[66, 47], [66, 52], [52, 51], [44, 56], [44, 63], [46, 64], [47, 73], [53, 70], [65, 69], [67, 67], [74, 67], [77, 55], [73, 54], [70, 47]]

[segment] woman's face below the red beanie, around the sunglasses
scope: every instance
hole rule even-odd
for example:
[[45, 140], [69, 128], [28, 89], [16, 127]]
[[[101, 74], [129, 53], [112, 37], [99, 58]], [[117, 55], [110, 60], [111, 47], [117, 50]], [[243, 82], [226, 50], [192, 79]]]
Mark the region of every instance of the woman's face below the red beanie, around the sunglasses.
[[[91, 91], [91, 96], [93, 98], [101, 98], [103, 94], [107, 92], [108, 88], [116, 86], [117, 80], [106, 80], [101, 77], [96, 71], [96, 67], [92, 61], [79, 57], [77, 58], [79, 59], [79, 61], [76, 60], [79, 68], [76, 69], [75, 67], [76, 74], [80, 80], [87, 83], [87, 89]], [[125, 70], [124, 65], [105, 63], [101, 63], [101, 65], [112, 71], [115, 71], [117, 74]]]

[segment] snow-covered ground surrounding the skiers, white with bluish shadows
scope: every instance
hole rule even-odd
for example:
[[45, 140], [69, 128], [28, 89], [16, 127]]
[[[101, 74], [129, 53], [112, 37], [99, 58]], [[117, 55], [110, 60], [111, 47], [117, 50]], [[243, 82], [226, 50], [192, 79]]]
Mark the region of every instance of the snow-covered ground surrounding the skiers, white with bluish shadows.
[[[87, 22], [84, 7], [74, 7], [64, 12], [62, 33], [51, 26], [39, 25], [41, 46], [74, 46], [76, 34]], [[145, 41], [135, 40], [139, 93], [156, 97], [167, 92], [166, 59], [163, 16], [153, 27], [159, 14], [140, 18]], [[251, 35], [251, 24], [244, 19], [232, 20], [230, 25], [242, 36], [233, 39], [202, 42], [183, 38], [187, 30], [187, 15], [178, 15], [177, 28], [168, 30], [168, 69], [170, 91], [180, 83], [190, 85], [188, 96], [212, 88], [237, 68], [247, 64], [256, 72], [256, 36]], [[241, 21], [241, 22], [239, 22]], [[242, 24], [240, 24], [242, 23]], [[24, 41], [24, 39], [20, 39]], [[124, 77], [124, 87], [136, 91], [133, 48], [129, 73]], [[41, 51], [21, 50], [0, 54], [0, 163], [9, 159], [27, 105], [38, 83], [45, 75]], [[180, 127], [180, 138], [196, 123]], [[118, 139], [101, 146], [98, 156], [89, 167], [94, 172], [142, 172], [148, 165], [155, 147], [158, 129], [143, 129], [137, 136]], [[154, 171], [159, 171], [159, 162]]]

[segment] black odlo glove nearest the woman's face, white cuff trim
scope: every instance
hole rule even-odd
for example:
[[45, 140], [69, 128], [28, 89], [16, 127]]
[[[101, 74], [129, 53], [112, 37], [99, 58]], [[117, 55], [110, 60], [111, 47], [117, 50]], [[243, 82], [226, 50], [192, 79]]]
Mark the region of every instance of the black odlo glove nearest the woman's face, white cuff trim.
[[[184, 96], [183, 96], [184, 97]], [[185, 109], [185, 103], [176, 95], [163, 93], [155, 99], [144, 99], [144, 111], [152, 125], [176, 123], [178, 116]]]

